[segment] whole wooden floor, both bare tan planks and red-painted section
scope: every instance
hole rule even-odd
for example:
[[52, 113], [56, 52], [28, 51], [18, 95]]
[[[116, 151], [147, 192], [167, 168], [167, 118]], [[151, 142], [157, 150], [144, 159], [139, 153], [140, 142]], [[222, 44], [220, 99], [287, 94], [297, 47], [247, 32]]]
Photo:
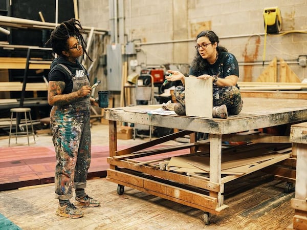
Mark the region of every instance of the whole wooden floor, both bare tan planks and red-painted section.
[[[119, 149], [124, 145], [119, 144]], [[224, 203], [229, 208], [222, 215], [213, 215], [211, 224], [205, 225], [204, 212], [195, 208], [129, 187], [118, 195], [117, 184], [101, 175], [96, 177], [108, 169], [106, 156], [107, 144], [92, 147], [92, 179], [86, 187], [101, 206], [83, 208], [84, 217], [80, 219], [67, 219], [55, 215], [58, 200], [50, 183], [55, 165], [53, 147], [0, 148], [0, 213], [23, 230], [286, 230], [292, 223], [290, 200], [294, 192], [284, 193], [286, 182], [271, 175], [256, 172], [226, 183]], [[33, 184], [37, 185], [29, 186]], [[9, 186], [15, 187], [8, 190]]]

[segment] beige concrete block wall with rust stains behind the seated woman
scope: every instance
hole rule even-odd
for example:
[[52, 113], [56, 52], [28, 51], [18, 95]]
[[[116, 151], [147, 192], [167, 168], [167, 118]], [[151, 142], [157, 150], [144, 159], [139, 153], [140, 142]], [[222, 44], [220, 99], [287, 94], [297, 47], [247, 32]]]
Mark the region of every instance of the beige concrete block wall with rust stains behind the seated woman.
[[[82, 25], [109, 29], [108, 2], [79, 1]], [[275, 6], [281, 10], [281, 32], [267, 36], [262, 66], [263, 10]], [[144, 65], [190, 64], [196, 34], [212, 29], [220, 45], [236, 56], [240, 80], [256, 81], [274, 57], [285, 60], [301, 80], [307, 78], [306, 67], [297, 64], [299, 55], [307, 55], [307, 33], [297, 32], [307, 30], [306, 0], [124, 0], [124, 14], [125, 39], [140, 48], [136, 56], [128, 57], [142, 64], [137, 71]], [[247, 62], [250, 65], [243, 65]]]

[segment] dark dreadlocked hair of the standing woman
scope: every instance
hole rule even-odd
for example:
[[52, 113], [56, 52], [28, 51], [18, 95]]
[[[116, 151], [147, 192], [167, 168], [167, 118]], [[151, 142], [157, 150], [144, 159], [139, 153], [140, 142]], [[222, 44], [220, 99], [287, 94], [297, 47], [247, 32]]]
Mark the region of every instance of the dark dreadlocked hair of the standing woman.
[[[86, 43], [81, 32], [84, 32], [84, 30], [79, 20], [71, 18], [68, 21], [62, 22], [51, 32], [50, 38], [46, 42], [46, 45], [50, 44], [53, 52], [59, 56], [63, 56], [62, 51], [68, 50], [67, 39], [71, 36], [75, 36], [79, 39], [79, 41], [81, 41], [80, 45], [82, 46], [83, 52], [91, 61], [93, 61], [86, 52]], [[84, 55], [82, 58], [84, 60]]]

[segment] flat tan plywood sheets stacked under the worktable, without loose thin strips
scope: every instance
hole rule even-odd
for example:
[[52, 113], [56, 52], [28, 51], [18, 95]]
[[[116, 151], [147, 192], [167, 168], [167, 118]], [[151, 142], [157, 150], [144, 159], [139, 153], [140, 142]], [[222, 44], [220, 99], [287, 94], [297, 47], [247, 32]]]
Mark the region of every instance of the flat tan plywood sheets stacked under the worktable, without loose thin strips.
[[[290, 154], [291, 148], [289, 149], [289, 144], [280, 146], [279, 143], [257, 143], [238, 147], [235, 150], [232, 148], [224, 149], [222, 151], [221, 173], [227, 175], [251, 173], [287, 159]], [[194, 154], [191, 154], [191, 156], [176, 156], [171, 157], [165, 169], [186, 173], [187, 175], [193, 173], [208, 174], [210, 172], [209, 162], [209, 153], [199, 156]]]

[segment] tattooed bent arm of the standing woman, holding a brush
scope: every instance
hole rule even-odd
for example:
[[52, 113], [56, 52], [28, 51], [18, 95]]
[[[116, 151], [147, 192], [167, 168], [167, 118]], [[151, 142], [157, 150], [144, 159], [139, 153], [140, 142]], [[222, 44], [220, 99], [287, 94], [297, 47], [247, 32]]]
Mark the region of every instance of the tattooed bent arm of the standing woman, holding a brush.
[[62, 94], [64, 88], [64, 81], [49, 81], [48, 103], [50, 106], [62, 106], [63, 104], [78, 101], [81, 97], [89, 95], [92, 91], [90, 86], [82, 86], [82, 88], [76, 92]]

